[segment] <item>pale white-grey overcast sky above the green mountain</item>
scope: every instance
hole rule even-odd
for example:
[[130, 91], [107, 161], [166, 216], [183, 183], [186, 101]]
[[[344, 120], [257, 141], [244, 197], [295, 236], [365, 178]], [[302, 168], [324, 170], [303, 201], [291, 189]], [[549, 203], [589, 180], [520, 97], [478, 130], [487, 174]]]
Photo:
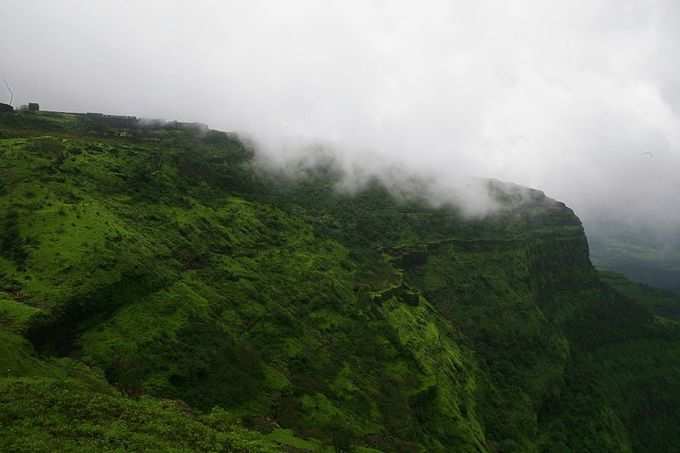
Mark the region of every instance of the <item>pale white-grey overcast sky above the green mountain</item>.
[[677, 0], [0, 6], [16, 104], [323, 142], [680, 231]]

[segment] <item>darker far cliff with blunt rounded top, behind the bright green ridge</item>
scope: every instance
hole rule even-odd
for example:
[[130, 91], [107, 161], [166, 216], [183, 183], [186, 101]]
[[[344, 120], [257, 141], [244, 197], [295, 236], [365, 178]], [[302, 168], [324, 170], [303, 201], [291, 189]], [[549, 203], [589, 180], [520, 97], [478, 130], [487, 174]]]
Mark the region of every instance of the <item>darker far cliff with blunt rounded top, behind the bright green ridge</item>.
[[[401, 276], [400, 288], [418, 291], [453, 326], [453, 337], [475, 367], [476, 413], [486, 448], [552, 450], [562, 444], [550, 437], [554, 428], [546, 429], [550, 406], [568, 386], [574, 356], [585, 354], [574, 350], [582, 338], [571, 338], [571, 325], [580, 326], [607, 290], [589, 263], [582, 227], [570, 209], [537, 191], [499, 183], [490, 189], [504, 208], [480, 221], [446, 207], [395, 203], [378, 184], [346, 198], [328, 192], [324, 199], [316, 192], [308, 200], [306, 187], [297, 196], [336, 219], [333, 229], [322, 224], [319, 230], [356, 256], [366, 255], [364, 232], [377, 232], [374, 241]], [[373, 223], [376, 217], [381, 220]], [[366, 274], [374, 275], [377, 258], [364, 259]], [[644, 313], [631, 317], [634, 323], [646, 319]], [[603, 321], [604, 328], [610, 320]], [[579, 424], [560, 425], [557, 434], [570, 442], [586, 438], [589, 448], [629, 449], [625, 429], [608, 406], [595, 399], [588, 405], [592, 413]], [[591, 426], [597, 426], [594, 434], [584, 435]]]

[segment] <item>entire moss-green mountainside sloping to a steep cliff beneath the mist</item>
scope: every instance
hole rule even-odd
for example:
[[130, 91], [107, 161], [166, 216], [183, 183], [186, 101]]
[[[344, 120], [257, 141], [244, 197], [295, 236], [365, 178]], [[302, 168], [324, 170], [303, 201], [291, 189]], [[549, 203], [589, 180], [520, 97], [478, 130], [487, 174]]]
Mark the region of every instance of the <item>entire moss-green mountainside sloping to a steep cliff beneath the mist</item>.
[[677, 328], [601, 283], [562, 203], [489, 182], [470, 220], [97, 126], [0, 117], [0, 449], [673, 445]]

